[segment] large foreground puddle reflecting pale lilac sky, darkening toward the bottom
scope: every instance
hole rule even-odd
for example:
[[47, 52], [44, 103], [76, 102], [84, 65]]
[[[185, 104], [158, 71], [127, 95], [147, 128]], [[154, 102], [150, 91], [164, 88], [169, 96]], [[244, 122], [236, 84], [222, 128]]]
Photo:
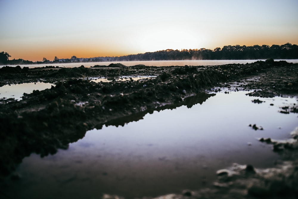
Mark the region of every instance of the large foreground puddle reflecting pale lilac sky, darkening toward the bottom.
[[[218, 93], [192, 108], [155, 111], [124, 127], [88, 131], [68, 150], [42, 159], [35, 154], [24, 158], [17, 172], [27, 186], [18, 187], [19, 194], [159, 195], [202, 188], [205, 180], [210, 186], [216, 170], [234, 162], [274, 166], [279, 156], [256, 138], [289, 138], [298, 124], [297, 114], [278, 110], [297, 99], [261, 98], [262, 104], [252, 103], [254, 99], [245, 92]], [[262, 125], [264, 130], [255, 131], [249, 124]]]

